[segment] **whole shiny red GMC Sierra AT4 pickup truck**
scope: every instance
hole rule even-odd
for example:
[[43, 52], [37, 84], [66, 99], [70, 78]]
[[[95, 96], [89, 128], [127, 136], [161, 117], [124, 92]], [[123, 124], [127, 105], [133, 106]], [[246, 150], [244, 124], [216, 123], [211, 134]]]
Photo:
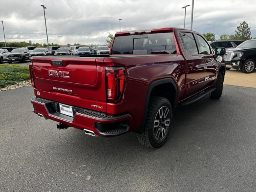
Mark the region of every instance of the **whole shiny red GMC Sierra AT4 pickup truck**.
[[220, 98], [225, 53], [196, 31], [158, 28], [116, 33], [109, 55], [32, 57], [33, 111], [58, 129], [104, 137], [132, 131], [157, 148], [178, 104]]

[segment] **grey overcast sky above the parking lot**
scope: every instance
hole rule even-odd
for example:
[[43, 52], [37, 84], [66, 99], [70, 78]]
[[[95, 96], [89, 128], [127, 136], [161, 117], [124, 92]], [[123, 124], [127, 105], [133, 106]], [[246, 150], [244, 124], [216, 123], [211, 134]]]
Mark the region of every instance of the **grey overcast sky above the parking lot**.
[[[102, 44], [108, 32], [162, 27], [183, 27], [184, 9], [192, 0], [0, 0], [0, 20], [4, 20], [6, 41]], [[190, 28], [191, 6], [187, 7], [186, 28]], [[200, 33], [234, 34], [247, 21], [256, 37], [256, 0], [194, 0], [193, 30]], [[213, 26], [213, 27], [212, 27]], [[0, 42], [4, 41], [2, 24]]]

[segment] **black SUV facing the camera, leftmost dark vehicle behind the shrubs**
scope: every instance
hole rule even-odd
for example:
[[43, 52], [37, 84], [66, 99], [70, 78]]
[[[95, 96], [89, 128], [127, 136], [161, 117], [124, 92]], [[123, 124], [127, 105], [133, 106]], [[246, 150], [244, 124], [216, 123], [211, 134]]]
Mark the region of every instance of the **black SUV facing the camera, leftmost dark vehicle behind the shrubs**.
[[13, 49], [12, 52], [9, 52], [6, 55], [8, 63], [13, 61], [26, 62], [26, 59], [29, 59], [29, 50], [24, 48]]

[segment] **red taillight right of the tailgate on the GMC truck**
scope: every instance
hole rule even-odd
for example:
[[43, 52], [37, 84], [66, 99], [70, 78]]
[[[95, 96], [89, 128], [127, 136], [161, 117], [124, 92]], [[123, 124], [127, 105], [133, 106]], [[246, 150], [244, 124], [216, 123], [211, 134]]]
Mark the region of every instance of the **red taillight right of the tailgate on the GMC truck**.
[[109, 102], [118, 102], [124, 91], [125, 70], [122, 67], [106, 67], [106, 91]]

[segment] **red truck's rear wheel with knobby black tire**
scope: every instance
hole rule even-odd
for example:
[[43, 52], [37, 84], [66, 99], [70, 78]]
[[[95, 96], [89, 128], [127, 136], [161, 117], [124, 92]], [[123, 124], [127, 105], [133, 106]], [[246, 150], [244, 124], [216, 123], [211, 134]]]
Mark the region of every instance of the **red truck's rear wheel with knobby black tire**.
[[[162, 109], [162, 118], [160, 117], [161, 112], [158, 113], [161, 109]], [[169, 111], [167, 111], [167, 109]], [[166, 117], [164, 117], [165, 115]], [[169, 118], [169, 121], [168, 121], [168, 118]], [[165, 124], [163, 121], [165, 123], [169, 122], [169, 125], [167, 126], [166, 124], [168, 123]], [[158, 123], [159, 126], [156, 126], [156, 123]], [[147, 114], [144, 131], [142, 133], [137, 133], [137, 138], [139, 142], [151, 148], [158, 148], [162, 146], [166, 142], [166, 139], [170, 132], [171, 123], [172, 123], [172, 106], [169, 100], [164, 97], [158, 97], [158, 96], [152, 97], [150, 99], [150, 103], [148, 107], [148, 114]], [[163, 132], [165, 133], [165, 135]]]

